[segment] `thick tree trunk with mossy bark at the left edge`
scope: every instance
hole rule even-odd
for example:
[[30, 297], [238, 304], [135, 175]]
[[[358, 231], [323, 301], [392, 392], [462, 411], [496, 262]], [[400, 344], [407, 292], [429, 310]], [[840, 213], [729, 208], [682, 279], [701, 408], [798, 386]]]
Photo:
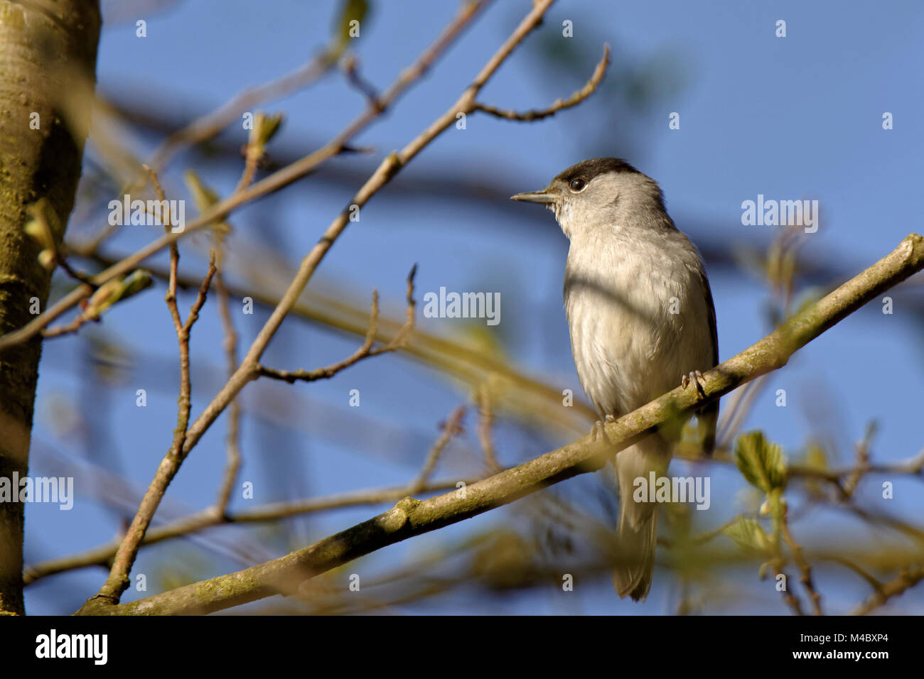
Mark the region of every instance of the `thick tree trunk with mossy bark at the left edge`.
[[[27, 236], [26, 208], [74, 204], [100, 35], [98, 0], [0, 0], [0, 334], [44, 309], [51, 271]], [[65, 228], [54, 228], [55, 247]], [[40, 336], [0, 355], [0, 479], [29, 472]], [[18, 489], [14, 488], [14, 491]], [[0, 502], [0, 614], [23, 614], [24, 505]]]

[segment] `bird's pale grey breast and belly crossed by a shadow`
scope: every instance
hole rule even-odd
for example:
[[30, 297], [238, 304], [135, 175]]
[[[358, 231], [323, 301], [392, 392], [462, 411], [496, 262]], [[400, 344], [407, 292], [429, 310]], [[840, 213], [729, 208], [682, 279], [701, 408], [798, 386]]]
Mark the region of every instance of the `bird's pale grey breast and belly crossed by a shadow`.
[[624, 414], [690, 370], [711, 368], [703, 280], [696, 249], [678, 231], [572, 236], [565, 311], [578, 379], [601, 415]]

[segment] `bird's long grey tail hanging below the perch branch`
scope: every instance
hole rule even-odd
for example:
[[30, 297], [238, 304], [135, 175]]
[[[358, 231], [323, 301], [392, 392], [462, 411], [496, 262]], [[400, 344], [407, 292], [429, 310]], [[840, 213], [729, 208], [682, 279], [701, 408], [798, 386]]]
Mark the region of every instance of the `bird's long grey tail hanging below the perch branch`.
[[670, 462], [670, 446], [655, 433], [616, 455], [619, 479], [619, 525], [616, 536], [618, 564], [613, 571], [613, 587], [620, 598], [644, 601], [651, 587], [654, 548], [658, 539], [658, 505], [648, 502], [648, 493], [634, 497], [636, 479], [644, 479], [641, 490], [650, 485], [650, 472], [660, 477]]

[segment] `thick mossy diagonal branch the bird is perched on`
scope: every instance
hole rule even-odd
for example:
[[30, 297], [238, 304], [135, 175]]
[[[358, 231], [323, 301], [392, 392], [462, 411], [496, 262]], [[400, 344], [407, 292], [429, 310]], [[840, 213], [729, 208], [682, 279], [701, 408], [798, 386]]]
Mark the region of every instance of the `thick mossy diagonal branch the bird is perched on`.
[[[298, 552], [237, 573], [172, 589], [147, 599], [106, 606], [91, 601], [79, 613], [175, 614], [221, 611], [280, 592], [313, 576], [401, 540], [480, 515], [543, 488], [602, 467], [678, 414], [728, 394], [745, 382], [782, 368], [790, 356], [870, 299], [924, 269], [924, 237], [906, 236], [869, 269], [786, 321], [754, 346], [706, 372], [697, 390], [677, 387], [605, 426], [606, 437], [584, 436], [563, 448], [506, 469], [488, 479], [420, 502], [406, 497], [395, 507]], [[904, 585], [905, 583], [902, 583]], [[897, 588], [902, 587], [899, 585]]]

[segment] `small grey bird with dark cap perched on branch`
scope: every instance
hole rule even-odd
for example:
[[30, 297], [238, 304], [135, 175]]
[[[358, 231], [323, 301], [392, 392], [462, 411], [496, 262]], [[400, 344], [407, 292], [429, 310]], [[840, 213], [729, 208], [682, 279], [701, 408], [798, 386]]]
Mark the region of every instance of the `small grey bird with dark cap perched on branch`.
[[[658, 183], [619, 158], [572, 165], [539, 191], [512, 200], [545, 205], [570, 241], [565, 314], [577, 378], [601, 421], [613, 421], [693, 385], [719, 362], [715, 306], [699, 250], [674, 224]], [[711, 455], [718, 401], [697, 414]], [[666, 474], [678, 436], [658, 430], [614, 455], [619, 490], [613, 584], [644, 601], [651, 587], [657, 506], [637, 501], [637, 479]]]

